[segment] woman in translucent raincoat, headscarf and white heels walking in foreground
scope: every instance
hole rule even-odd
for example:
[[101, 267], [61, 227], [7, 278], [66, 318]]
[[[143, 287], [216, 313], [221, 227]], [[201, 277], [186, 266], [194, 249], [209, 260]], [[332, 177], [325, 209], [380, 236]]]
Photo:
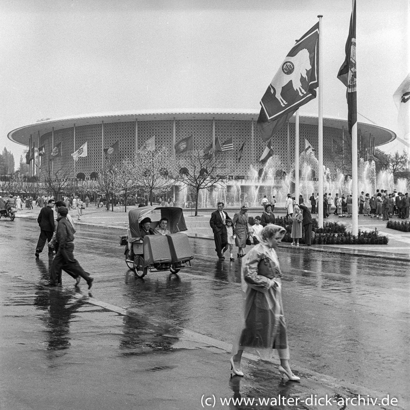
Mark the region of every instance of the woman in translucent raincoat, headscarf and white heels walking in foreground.
[[245, 293], [241, 332], [232, 348], [231, 370], [243, 376], [240, 361], [244, 350], [270, 359], [276, 349], [280, 359], [279, 372], [297, 381], [289, 365], [289, 347], [283, 315], [279, 260], [275, 252], [285, 229], [269, 224], [263, 228], [259, 243], [242, 262], [242, 290]]

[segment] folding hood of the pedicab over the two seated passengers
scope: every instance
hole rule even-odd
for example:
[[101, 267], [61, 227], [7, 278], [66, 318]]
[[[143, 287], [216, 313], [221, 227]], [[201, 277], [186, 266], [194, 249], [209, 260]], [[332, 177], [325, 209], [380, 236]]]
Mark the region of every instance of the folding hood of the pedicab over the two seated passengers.
[[151, 219], [151, 228], [155, 228], [161, 218], [168, 219], [168, 229], [172, 234], [187, 231], [185, 218], [183, 217], [182, 208], [177, 207], [141, 207], [131, 209], [128, 212], [128, 221], [130, 223], [131, 237], [139, 238], [140, 222], [144, 218]]

